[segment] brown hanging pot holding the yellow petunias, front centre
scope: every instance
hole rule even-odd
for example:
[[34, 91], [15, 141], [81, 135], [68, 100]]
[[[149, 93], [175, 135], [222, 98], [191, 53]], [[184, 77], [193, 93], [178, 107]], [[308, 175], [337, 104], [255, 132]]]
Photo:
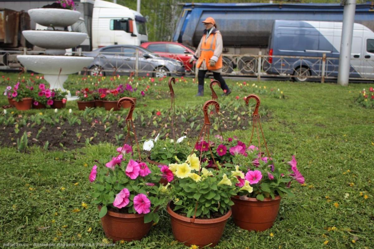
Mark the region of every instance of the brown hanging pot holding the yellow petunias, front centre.
[[172, 211], [168, 203], [168, 213], [171, 217], [171, 228], [176, 240], [186, 246], [197, 245], [202, 248], [206, 245], [217, 245], [223, 234], [227, 219], [231, 216], [231, 210], [227, 214], [214, 219], [187, 218]]

